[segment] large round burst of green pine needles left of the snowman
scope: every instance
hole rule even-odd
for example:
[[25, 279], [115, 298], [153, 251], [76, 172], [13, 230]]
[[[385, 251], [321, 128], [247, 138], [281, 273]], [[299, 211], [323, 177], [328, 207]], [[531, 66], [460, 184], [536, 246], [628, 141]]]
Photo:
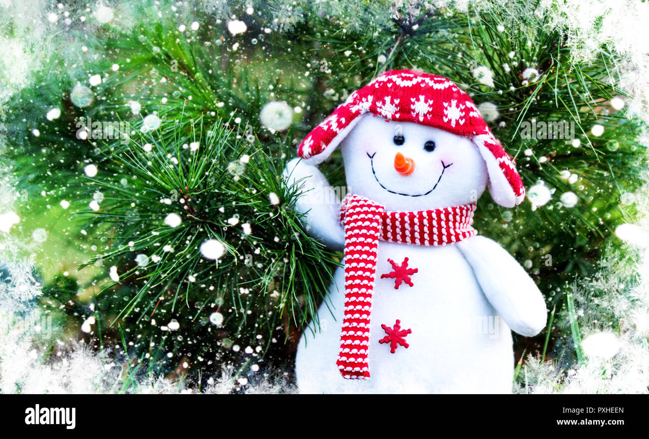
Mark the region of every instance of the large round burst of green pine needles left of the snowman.
[[[277, 331], [282, 322], [302, 326], [315, 314], [334, 260], [293, 211], [283, 151], [227, 123], [181, 117], [131, 137], [106, 159], [108, 177], [89, 179], [102, 208], [83, 215], [109, 248], [90, 264], [119, 267], [99, 308], [110, 325], [138, 328], [135, 348], [160, 343], [175, 321], [165, 348], [176, 357], [205, 359], [215, 344], [265, 353], [288, 335]], [[225, 247], [216, 261], [201, 254], [207, 240]]]

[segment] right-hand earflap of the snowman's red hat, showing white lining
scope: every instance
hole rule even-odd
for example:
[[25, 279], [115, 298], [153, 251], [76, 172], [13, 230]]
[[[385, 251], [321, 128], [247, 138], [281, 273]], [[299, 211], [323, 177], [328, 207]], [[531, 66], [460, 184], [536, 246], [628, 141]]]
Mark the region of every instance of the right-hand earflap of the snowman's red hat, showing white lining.
[[[476, 135], [472, 137], [473, 143], [478, 148], [478, 152], [482, 155], [482, 159], [487, 164], [487, 174], [489, 175], [489, 181], [487, 182], [487, 188], [489, 188], [489, 194], [493, 201], [501, 205], [502, 207], [514, 207], [519, 204], [522, 199], [524, 199], [524, 193], [522, 196], [517, 196], [514, 192], [514, 189], [509, 182], [507, 175], [505, 174], [507, 167], [511, 167], [513, 172], [515, 171], [514, 164], [511, 162], [511, 159], [502, 151], [502, 147], [491, 144], [489, 139], [485, 139], [486, 135]], [[491, 137], [493, 139], [493, 137]], [[487, 142], [485, 142], [487, 140]], [[489, 148], [491, 146], [491, 148]], [[500, 157], [496, 157], [498, 150], [502, 152]]]

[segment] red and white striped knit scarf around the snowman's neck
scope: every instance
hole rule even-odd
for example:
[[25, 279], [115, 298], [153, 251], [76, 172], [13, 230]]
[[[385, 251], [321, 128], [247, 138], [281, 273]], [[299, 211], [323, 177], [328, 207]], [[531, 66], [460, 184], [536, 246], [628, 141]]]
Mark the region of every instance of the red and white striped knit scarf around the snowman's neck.
[[419, 212], [386, 212], [371, 199], [349, 194], [341, 204], [345, 227], [345, 317], [336, 364], [347, 379], [369, 378], [370, 312], [378, 241], [447, 245], [476, 234], [476, 205]]

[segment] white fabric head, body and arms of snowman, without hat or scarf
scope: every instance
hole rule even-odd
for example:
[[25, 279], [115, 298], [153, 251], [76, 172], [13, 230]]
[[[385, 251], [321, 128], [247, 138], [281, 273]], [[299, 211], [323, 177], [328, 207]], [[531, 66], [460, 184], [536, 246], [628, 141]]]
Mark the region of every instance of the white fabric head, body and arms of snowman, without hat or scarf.
[[[394, 144], [395, 132], [404, 136], [404, 144]], [[423, 149], [426, 141], [435, 142], [434, 151]], [[373, 115], [363, 116], [341, 148], [350, 192], [387, 210], [473, 203], [484, 192], [493, 168], [489, 156], [482, 155], [471, 139]], [[395, 171], [397, 152], [415, 161], [412, 174]], [[330, 198], [336, 191], [324, 175], [297, 159], [284, 175], [289, 183], [301, 181], [302, 191], [312, 194], [296, 206], [306, 213], [310, 234], [341, 249], [339, 204]], [[494, 193], [503, 187], [489, 185], [496, 201], [508, 199]], [[329, 202], [313, 202], [319, 199], [313, 192], [326, 194]], [[406, 257], [408, 267], [419, 271], [411, 275], [413, 287], [402, 284], [395, 289], [394, 279], [380, 275], [392, 271], [388, 258], [401, 264]], [[509, 328], [530, 336], [543, 330], [546, 321], [545, 300], [533, 280], [488, 238], [475, 236], [445, 247], [380, 241], [371, 311], [371, 378], [347, 380], [336, 366], [344, 285], [344, 270], [339, 267], [319, 310], [321, 331], [312, 326], [302, 335], [295, 369], [301, 392], [511, 392], [514, 359]], [[386, 335], [381, 324], [393, 326], [397, 319], [402, 329], [412, 330], [406, 337], [410, 347], [399, 346], [391, 354], [389, 346], [378, 341]]]

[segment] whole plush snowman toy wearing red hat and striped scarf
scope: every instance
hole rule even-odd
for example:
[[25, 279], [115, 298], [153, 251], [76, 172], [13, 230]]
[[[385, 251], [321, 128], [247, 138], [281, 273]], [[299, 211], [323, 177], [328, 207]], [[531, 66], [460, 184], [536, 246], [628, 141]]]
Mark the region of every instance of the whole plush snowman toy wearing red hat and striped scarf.
[[[349, 194], [312, 166], [341, 147]], [[546, 323], [526, 271], [472, 217], [485, 187], [524, 198], [509, 155], [446, 78], [389, 71], [352, 93], [302, 141], [285, 178], [310, 233], [344, 248], [300, 340], [301, 392], [508, 393], [511, 330]], [[370, 331], [371, 322], [371, 331]]]

